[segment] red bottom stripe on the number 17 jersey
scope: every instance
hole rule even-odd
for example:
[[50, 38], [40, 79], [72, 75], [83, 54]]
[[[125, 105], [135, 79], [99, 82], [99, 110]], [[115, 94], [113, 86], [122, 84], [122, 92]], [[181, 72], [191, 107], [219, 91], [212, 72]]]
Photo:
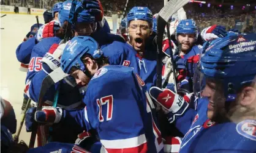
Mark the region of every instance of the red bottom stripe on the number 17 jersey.
[[106, 148], [106, 150], [108, 151], [108, 153], [134, 153], [134, 152], [138, 152], [138, 153], [146, 153], [148, 151], [148, 145], [147, 143], [143, 143], [140, 146], [134, 147], [134, 148], [120, 148], [120, 149], [110, 149], [110, 148]]

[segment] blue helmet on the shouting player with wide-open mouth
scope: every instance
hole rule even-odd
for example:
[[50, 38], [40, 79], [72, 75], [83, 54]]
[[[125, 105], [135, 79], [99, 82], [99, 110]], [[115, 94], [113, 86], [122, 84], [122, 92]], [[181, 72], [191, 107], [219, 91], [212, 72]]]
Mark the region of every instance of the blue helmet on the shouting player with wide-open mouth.
[[151, 10], [148, 7], [132, 7], [132, 9], [127, 14], [127, 26], [132, 20], [144, 20], [148, 21], [149, 24], [152, 24], [153, 15]]

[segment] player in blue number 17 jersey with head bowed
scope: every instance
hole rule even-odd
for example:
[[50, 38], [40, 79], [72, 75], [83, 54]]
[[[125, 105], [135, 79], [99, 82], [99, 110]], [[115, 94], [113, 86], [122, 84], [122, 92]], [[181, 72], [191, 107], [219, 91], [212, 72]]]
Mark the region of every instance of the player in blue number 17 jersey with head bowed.
[[[147, 99], [145, 83], [132, 68], [109, 65], [107, 57], [98, 49], [99, 45], [91, 37], [75, 37], [61, 57], [65, 73], [73, 76], [78, 85], [89, 83], [83, 98], [85, 109], [43, 107], [36, 112], [36, 121], [50, 121], [70, 129], [96, 129], [102, 145], [92, 146], [96, 149], [92, 152], [163, 152], [155, 107]], [[29, 119], [26, 122], [32, 118]]]

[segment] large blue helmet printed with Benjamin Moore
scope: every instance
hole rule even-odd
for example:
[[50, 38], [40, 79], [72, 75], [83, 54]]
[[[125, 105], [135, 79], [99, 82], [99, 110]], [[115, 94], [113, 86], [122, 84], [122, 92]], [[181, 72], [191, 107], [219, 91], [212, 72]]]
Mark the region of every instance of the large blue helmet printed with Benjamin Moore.
[[234, 101], [244, 85], [256, 75], [256, 34], [228, 35], [206, 49], [200, 59], [204, 77], [219, 80], [225, 101]]

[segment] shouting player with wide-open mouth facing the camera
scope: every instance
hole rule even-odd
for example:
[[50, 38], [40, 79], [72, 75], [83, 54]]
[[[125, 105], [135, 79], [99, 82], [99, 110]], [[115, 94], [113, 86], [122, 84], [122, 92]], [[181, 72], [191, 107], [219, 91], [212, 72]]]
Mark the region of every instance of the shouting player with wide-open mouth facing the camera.
[[134, 68], [134, 72], [150, 87], [156, 80], [156, 51], [145, 49], [146, 41], [152, 34], [151, 10], [148, 7], [133, 7], [127, 14], [127, 31], [129, 41], [114, 41], [102, 51], [111, 65]]

